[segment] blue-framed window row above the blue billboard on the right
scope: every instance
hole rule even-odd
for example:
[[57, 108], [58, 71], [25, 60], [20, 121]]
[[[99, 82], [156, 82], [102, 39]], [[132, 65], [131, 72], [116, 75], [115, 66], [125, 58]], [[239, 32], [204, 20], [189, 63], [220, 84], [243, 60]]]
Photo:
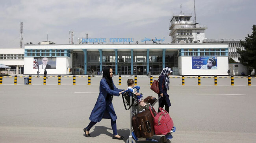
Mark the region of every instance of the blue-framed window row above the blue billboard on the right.
[[227, 56], [226, 49], [180, 49], [179, 56]]

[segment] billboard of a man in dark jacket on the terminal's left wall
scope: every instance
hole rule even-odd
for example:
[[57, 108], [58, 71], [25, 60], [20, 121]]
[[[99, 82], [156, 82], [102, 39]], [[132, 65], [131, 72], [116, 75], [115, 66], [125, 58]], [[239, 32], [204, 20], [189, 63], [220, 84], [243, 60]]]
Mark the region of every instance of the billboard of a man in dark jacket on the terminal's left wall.
[[56, 57], [34, 57], [33, 69], [56, 69]]

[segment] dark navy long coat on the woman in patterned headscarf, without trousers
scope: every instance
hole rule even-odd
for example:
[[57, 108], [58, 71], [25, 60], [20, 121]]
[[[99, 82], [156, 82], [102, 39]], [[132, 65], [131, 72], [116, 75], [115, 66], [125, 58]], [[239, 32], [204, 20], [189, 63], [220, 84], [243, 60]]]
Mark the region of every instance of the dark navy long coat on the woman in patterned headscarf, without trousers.
[[[159, 76], [159, 91], [160, 91], [160, 94], [163, 93], [163, 98], [160, 98], [158, 100], [158, 104], [159, 106], [161, 105], [162, 101], [165, 100], [167, 105], [170, 107], [171, 106], [171, 101], [169, 99], [169, 95], [167, 94], [167, 88], [165, 87], [165, 83], [163, 83], [165, 80], [165, 76]], [[162, 88], [162, 84], [163, 84], [163, 88]], [[158, 94], [158, 98], [160, 97], [160, 94]]]

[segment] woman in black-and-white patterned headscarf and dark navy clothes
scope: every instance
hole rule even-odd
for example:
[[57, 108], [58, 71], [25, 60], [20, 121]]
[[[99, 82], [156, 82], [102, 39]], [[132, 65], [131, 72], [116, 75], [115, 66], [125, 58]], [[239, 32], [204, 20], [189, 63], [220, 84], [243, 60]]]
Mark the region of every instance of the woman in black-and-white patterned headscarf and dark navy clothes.
[[[165, 106], [165, 110], [169, 112], [169, 107], [171, 106], [171, 102], [169, 100], [169, 95], [167, 94], [167, 90], [169, 90], [169, 75], [173, 72], [171, 68], [165, 67], [159, 76], [159, 91], [158, 98], [161, 96], [162, 98], [158, 101], [158, 107]], [[158, 109], [158, 112], [161, 112]]]

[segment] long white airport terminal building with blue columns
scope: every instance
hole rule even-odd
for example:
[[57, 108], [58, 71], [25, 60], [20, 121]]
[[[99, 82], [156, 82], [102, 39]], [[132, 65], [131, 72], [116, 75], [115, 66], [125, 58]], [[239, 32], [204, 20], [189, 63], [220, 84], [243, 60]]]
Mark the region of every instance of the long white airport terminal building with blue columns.
[[[208, 62], [212, 67], [207, 68]], [[159, 75], [163, 67], [171, 67], [173, 75], [227, 75], [228, 45], [99, 43], [24, 46], [24, 74], [37, 74], [37, 69], [40, 73], [46, 69], [51, 75], [100, 74], [106, 66], [112, 67], [115, 75], [148, 75], [149, 72]]]

